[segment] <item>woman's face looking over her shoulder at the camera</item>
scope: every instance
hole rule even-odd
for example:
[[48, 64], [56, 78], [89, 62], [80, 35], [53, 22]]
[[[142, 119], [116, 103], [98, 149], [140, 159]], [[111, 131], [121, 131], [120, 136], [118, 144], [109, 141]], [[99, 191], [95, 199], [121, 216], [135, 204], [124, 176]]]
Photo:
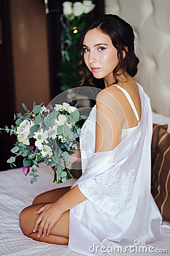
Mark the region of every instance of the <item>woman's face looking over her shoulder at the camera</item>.
[[94, 77], [104, 78], [107, 84], [113, 82], [113, 69], [119, 60], [111, 38], [94, 28], [84, 36], [83, 49], [84, 61]]

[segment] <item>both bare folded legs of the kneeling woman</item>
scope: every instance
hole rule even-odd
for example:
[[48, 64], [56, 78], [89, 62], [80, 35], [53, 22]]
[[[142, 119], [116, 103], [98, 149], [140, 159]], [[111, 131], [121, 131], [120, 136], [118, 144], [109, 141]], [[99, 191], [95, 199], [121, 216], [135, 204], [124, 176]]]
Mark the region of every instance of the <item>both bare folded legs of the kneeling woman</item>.
[[35, 213], [36, 210], [40, 209], [42, 205], [46, 203], [53, 203], [57, 201], [59, 197], [64, 195], [70, 187], [57, 188], [51, 191], [45, 192], [37, 196], [30, 207], [22, 210], [19, 216], [20, 228], [25, 236], [31, 237], [37, 241], [57, 243], [59, 245], [67, 245], [69, 242], [69, 210], [65, 212], [61, 218], [54, 225], [51, 234], [46, 237], [37, 238], [37, 233], [33, 233], [33, 225], [36, 218], [38, 217]]

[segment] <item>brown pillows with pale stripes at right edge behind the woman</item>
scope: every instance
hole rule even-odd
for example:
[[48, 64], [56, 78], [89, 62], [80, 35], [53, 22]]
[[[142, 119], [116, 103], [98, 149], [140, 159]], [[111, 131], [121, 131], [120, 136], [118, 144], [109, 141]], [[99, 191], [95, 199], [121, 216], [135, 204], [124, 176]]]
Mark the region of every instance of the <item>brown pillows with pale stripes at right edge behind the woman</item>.
[[151, 193], [162, 214], [170, 221], [170, 133], [168, 125], [153, 125], [151, 144]]

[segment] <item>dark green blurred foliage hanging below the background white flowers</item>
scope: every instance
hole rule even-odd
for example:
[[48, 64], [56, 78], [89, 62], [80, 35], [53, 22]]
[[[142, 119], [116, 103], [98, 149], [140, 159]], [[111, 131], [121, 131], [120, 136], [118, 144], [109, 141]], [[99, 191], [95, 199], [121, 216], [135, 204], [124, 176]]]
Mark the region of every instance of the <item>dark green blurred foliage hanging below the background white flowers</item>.
[[61, 71], [57, 76], [61, 77], [61, 90], [67, 90], [79, 86], [81, 77], [76, 71], [80, 56], [77, 50], [77, 40], [86, 26], [88, 15], [76, 16], [73, 19], [63, 16], [65, 23], [61, 33]]

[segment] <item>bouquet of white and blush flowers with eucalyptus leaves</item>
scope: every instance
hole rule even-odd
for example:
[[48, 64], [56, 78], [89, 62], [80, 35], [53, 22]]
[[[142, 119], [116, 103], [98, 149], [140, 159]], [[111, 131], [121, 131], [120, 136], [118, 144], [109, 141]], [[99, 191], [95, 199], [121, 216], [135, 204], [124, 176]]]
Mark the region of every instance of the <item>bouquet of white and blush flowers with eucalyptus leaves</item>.
[[17, 141], [7, 162], [15, 166], [17, 156], [23, 157], [23, 172], [25, 176], [31, 170], [31, 183], [37, 181], [37, 168], [40, 162], [47, 166], [53, 164], [53, 182], [62, 183], [71, 179], [69, 170], [69, 156], [74, 154], [71, 149], [78, 149], [77, 138], [80, 135], [80, 127], [76, 125], [79, 120], [77, 105], [71, 106], [66, 102], [55, 104], [54, 107], [46, 108], [43, 103], [36, 105], [29, 111], [25, 104], [22, 104], [25, 114], [15, 114], [15, 126], [11, 129], [5, 126], [10, 135], [15, 134]]

